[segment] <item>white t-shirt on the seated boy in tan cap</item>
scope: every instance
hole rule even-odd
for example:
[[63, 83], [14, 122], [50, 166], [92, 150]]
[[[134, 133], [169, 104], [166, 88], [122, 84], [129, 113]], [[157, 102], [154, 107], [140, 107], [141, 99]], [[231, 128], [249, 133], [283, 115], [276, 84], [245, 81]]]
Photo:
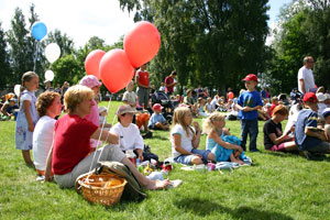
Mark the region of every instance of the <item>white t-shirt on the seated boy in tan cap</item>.
[[110, 129], [110, 132], [119, 135], [119, 147], [122, 151], [144, 148], [140, 130], [133, 123], [131, 123], [128, 128], [122, 127], [121, 123], [117, 123]]

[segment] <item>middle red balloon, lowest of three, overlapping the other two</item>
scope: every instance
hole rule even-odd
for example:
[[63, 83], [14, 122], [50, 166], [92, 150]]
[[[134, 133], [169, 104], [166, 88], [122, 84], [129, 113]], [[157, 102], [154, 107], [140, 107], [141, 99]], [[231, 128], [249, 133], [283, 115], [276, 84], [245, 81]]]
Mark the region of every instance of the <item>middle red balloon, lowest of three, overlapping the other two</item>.
[[134, 67], [123, 50], [109, 51], [100, 62], [100, 75], [111, 94], [123, 89], [134, 76]]

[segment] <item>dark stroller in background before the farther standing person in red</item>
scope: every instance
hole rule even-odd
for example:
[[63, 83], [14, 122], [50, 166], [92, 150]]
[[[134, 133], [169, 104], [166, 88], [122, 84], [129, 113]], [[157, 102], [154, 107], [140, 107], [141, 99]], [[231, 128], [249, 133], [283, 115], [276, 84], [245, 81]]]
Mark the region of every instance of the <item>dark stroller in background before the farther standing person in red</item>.
[[152, 95], [152, 106], [155, 103], [162, 105], [163, 116], [168, 123], [172, 123], [173, 112], [175, 108], [175, 103], [169, 99], [169, 97], [164, 91], [155, 91]]

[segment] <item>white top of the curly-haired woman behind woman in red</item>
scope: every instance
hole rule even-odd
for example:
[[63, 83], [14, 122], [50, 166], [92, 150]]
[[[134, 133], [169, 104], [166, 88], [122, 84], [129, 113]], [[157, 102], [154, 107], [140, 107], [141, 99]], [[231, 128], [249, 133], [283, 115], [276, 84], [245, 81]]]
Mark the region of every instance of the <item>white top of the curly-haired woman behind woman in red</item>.
[[33, 157], [35, 168], [40, 170], [46, 169], [46, 161], [54, 139], [55, 122], [55, 119], [44, 116], [37, 121], [34, 128]]

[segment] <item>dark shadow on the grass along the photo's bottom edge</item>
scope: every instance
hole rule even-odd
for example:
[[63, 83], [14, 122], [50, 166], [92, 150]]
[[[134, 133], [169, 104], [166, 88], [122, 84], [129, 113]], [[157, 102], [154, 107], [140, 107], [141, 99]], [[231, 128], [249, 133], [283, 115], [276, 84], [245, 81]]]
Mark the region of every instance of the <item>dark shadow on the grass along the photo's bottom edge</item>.
[[213, 201], [199, 198], [184, 198], [175, 201], [175, 205], [183, 211], [193, 211], [200, 217], [207, 217], [210, 212], [229, 213], [235, 219], [256, 220], [256, 219], [284, 219], [293, 220], [292, 217], [275, 211], [257, 210], [251, 207], [242, 206], [235, 209], [223, 207]]

